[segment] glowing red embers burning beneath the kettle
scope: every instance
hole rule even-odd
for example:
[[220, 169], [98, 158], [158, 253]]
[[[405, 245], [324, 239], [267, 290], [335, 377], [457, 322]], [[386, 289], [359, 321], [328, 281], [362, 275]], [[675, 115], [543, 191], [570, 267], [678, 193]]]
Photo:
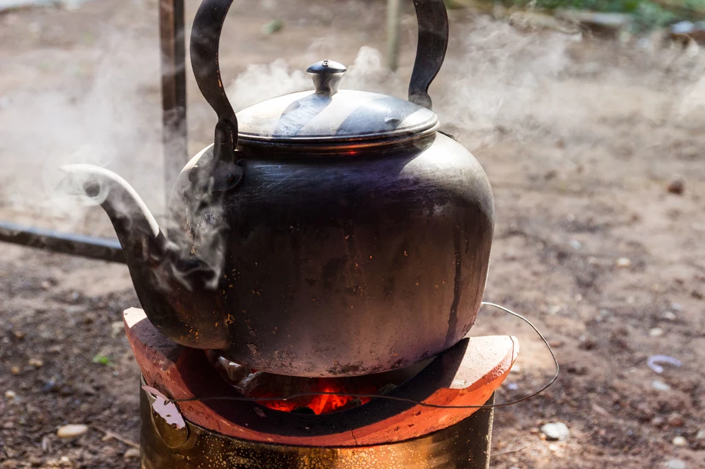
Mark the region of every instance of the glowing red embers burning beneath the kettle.
[[[356, 389], [347, 389], [340, 380], [329, 378], [315, 378], [312, 380], [310, 392], [342, 392], [348, 394], [374, 394], [376, 392], [374, 386], [357, 386]], [[355, 398], [351, 396], [336, 396], [333, 394], [317, 394], [315, 396], [306, 396], [302, 398], [292, 399], [290, 401], [261, 401], [265, 407], [274, 409], [275, 411], [291, 412], [300, 407], [310, 408], [316, 415], [321, 413], [329, 413], [346, 406], [350, 401], [359, 399], [362, 404], [369, 402], [369, 397]]]

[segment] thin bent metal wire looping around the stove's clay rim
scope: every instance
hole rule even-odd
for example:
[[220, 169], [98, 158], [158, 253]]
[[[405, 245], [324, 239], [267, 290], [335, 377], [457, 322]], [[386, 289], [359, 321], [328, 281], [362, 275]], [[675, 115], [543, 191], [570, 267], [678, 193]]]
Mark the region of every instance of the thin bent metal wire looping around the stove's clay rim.
[[521, 399], [515, 399], [514, 401], [509, 401], [509, 402], [501, 402], [499, 404], [485, 404], [482, 406], [443, 406], [439, 404], [427, 404], [425, 402], [421, 401], [415, 401], [414, 399], [407, 399], [405, 397], [397, 397], [397, 396], [387, 396], [385, 394], [355, 394], [355, 393], [348, 393], [348, 392], [327, 392], [327, 391], [321, 391], [321, 392], [300, 392], [298, 394], [291, 394], [290, 396], [286, 397], [245, 397], [245, 396], [207, 396], [207, 397], [188, 397], [185, 399], [168, 399], [166, 401], [166, 404], [170, 402], [174, 403], [179, 403], [179, 402], [192, 402], [192, 401], [252, 401], [252, 402], [266, 402], [266, 401], [288, 401], [290, 399], [297, 399], [299, 397], [307, 397], [307, 396], [344, 396], [344, 397], [357, 397], [357, 398], [364, 398], [364, 399], [388, 399], [390, 401], [400, 401], [400, 402], [407, 402], [410, 404], [415, 404], [417, 406], [422, 406], [422, 407], [430, 407], [430, 408], [495, 408], [495, 407], [505, 407], [505, 406], [513, 406], [514, 404], [519, 404], [522, 401], [526, 401], [527, 399], [532, 399], [532, 397], [538, 396], [542, 392], [546, 391], [548, 387], [551, 386], [556, 380], [558, 379], [558, 373], [560, 373], [560, 366], [558, 365], [558, 358], [556, 358], [556, 354], [553, 353], [553, 349], [551, 349], [551, 345], [548, 344], [548, 340], [546, 340], [546, 337], [544, 337], [541, 332], [537, 329], [535, 325], [532, 324], [531, 321], [529, 321], [527, 318], [524, 316], [520, 315], [519, 313], [515, 313], [514, 311], [511, 311], [508, 308], [505, 308], [504, 306], [500, 306], [498, 304], [494, 303], [488, 303], [486, 301], [482, 302], [482, 306], [492, 306], [493, 308], [498, 308], [501, 311], [504, 311], [505, 313], [508, 313], [510, 315], [513, 315], [517, 318], [520, 318], [523, 320], [525, 323], [527, 323], [529, 326], [532, 327], [534, 332], [539, 334], [539, 337], [541, 337], [541, 340], [544, 341], [544, 344], [546, 344], [546, 348], [548, 349], [548, 352], [551, 354], [551, 358], [553, 358], [553, 364], [556, 365], [556, 373], [553, 375], [550, 381], [544, 387], [541, 387], [537, 392], [534, 392], [532, 394], [529, 394], [528, 396], [524, 396]]

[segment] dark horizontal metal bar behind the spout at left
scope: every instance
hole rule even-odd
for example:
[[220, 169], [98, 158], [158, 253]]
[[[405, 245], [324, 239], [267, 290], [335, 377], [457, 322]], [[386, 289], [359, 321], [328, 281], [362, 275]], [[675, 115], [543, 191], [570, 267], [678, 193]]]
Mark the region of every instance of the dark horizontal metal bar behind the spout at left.
[[0, 221], [0, 242], [125, 263], [123, 249], [117, 239], [74, 235]]

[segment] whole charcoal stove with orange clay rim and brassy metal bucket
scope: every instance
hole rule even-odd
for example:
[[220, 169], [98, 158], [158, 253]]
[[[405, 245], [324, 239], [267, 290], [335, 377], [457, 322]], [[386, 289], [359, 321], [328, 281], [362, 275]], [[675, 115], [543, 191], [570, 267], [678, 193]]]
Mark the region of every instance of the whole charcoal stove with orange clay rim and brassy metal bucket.
[[[204, 351], [164, 337], [140, 309], [124, 319], [144, 384], [178, 401], [185, 419], [182, 428], [166, 423], [142, 389], [143, 469], [487, 468], [493, 410], [458, 406], [494, 403], [519, 351], [515, 337], [466, 337], [389, 377], [403, 380], [385, 394], [396, 400], [313, 415], [228, 400], [243, 395]], [[200, 400], [182, 401], [190, 398]]]

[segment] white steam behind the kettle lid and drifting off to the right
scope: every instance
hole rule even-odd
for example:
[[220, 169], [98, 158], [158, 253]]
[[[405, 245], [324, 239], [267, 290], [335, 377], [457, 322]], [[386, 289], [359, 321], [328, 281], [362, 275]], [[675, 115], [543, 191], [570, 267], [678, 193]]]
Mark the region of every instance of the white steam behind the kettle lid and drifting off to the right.
[[[618, 86], [667, 86], [674, 94], [674, 106], [662, 117], [669, 119], [686, 119], [705, 104], [705, 80], [701, 79], [705, 59], [692, 46], [682, 49], [653, 38], [579, 46], [609, 46], [619, 58], [608, 61], [601, 54], [598, 61], [589, 61], [575, 56], [577, 44], [586, 40], [570, 31], [527, 32], [489, 16], [451, 23], [446, 61], [429, 90], [441, 128], [477, 151], [494, 146], [501, 138], [545, 139], [547, 132], [548, 138], [556, 141], [584, 138], [582, 127], [599, 123], [602, 108], [614, 106], [613, 100], [620, 99], [615, 95]], [[312, 40], [307, 58], [321, 42], [326, 41]], [[412, 45], [402, 48], [406, 65], [399, 73], [386, 68], [378, 49], [362, 46], [352, 65], [348, 63], [341, 89], [406, 99]], [[242, 109], [274, 96], [312, 89], [309, 77], [302, 73], [305, 64], [296, 65], [300, 68], [281, 59], [269, 65], [251, 65], [228, 86], [231, 102]], [[576, 92], [581, 88], [584, 93]], [[637, 102], [631, 112], [661, 113], [648, 106]]]

